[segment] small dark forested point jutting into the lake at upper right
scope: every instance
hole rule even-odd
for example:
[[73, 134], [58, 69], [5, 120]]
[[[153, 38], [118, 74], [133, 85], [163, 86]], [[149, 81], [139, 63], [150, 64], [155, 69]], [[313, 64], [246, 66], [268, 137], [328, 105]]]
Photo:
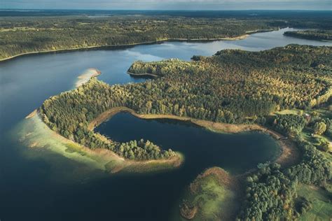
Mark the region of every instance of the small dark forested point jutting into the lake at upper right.
[[312, 40], [332, 41], [332, 30], [285, 31], [284, 35]]

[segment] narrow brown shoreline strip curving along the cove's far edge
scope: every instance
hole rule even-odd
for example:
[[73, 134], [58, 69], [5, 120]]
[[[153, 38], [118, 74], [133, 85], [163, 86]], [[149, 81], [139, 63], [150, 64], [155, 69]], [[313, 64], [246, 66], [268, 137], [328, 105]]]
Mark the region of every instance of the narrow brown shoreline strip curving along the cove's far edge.
[[260, 131], [264, 134], [268, 134], [269, 136], [271, 136], [279, 145], [282, 151], [276, 159], [273, 159], [274, 162], [277, 162], [283, 167], [286, 167], [296, 162], [300, 157], [300, 153], [298, 152], [296, 145], [292, 141], [279, 140], [279, 138], [284, 137], [282, 134], [279, 134], [276, 131], [273, 131], [271, 129], [268, 129], [267, 127], [263, 127], [258, 124], [226, 124], [221, 122], [212, 122], [208, 120], [198, 120], [191, 117], [179, 117], [176, 115], [140, 115], [130, 108], [116, 107], [111, 108], [110, 110], [106, 110], [104, 113], [100, 114], [98, 117], [92, 120], [92, 122], [90, 122], [88, 125], [88, 129], [95, 129], [95, 127], [98, 127], [99, 124], [102, 124], [102, 122], [109, 120], [113, 115], [116, 115], [120, 112], [127, 112], [141, 119], [171, 119], [191, 122], [197, 126], [219, 133], [237, 134], [244, 131]]

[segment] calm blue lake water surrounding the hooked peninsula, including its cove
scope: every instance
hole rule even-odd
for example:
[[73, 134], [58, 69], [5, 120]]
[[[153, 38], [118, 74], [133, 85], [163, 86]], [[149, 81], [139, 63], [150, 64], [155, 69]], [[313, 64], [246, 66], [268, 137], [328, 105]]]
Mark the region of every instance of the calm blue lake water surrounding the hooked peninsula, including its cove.
[[145, 79], [132, 78], [126, 71], [137, 59], [189, 60], [226, 48], [257, 51], [289, 43], [332, 45], [283, 36], [288, 30], [292, 29], [253, 34], [241, 41], [166, 42], [1, 62], [0, 220], [170, 220], [186, 186], [206, 167], [241, 173], [271, 159], [277, 146], [263, 134], [214, 134], [183, 122], [140, 120], [119, 113], [98, 130], [118, 141], [148, 138], [183, 152], [186, 161], [180, 169], [165, 173], [109, 176], [100, 171], [81, 173], [82, 165], [60, 155], [29, 150], [8, 131], [48, 97], [72, 89], [77, 76], [88, 68], [102, 71], [98, 78], [109, 84], [135, 83]]

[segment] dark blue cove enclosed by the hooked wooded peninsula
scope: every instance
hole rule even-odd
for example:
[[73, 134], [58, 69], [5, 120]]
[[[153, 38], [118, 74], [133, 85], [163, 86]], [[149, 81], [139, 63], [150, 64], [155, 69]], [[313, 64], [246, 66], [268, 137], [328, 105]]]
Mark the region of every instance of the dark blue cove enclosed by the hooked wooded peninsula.
[[188, 178], [195, 178], [211, 166], [220, 166], [230, 173], [244, 173], [279, 154], [279, 146], [267, 134], [256, 131], [221, 134], [190, 122], [145, 120], [125, 112], [114, 115], [95, 131], [120, 142], [144, 138], [165, 150], [172, 148], [183, 153], [186, 159], [181, 176]]

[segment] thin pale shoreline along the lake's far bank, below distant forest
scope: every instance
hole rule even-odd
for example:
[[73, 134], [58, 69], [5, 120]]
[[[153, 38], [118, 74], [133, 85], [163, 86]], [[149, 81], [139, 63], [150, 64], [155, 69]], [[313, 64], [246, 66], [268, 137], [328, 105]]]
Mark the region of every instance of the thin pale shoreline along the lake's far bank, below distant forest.
[[279, 29], [258, 29], [255, 31], [245, 31], [245, 34], [242, 34], [240, 36], [235, 36], [235, 37], [223, 37], [223, 38], [162, 38], [159, 40], [155, 41], [146, 41], [146, 42], [139, 42], [139, 43], [129, 43], [129, 44], [120, 44], [120, 45], [95, 45], [95, 46], [87, 46], [87, 47], [82, 47], [82, 48], [68, 48], [68, 49], [58, 49], [58, 50], [42, 50], [42, 51], [37, 51], [37, 52], [25, 52], [25, 53], [20, 53], [18, 55], [13, 55], [11, 57], [6, 57], [3, 59], [0, 59], [0, 62], [6, 62], [11, 59], [15, 59], [16, 57], [23, 57], [25, 55], [39, 55], [39, 54], [50, 54], [50, 53], [57, 53], [57, 52], [74, 52], [74, 51], [79, 51], [79, 50], [97, 50], [97, 49], [106, 49], [106, 48], [111, 48], [117, 49], [117, 48], [129, 48], [132, 46], [137, 46], [137, 45], [148, 45], [148, 44], [155, 44], [155, 43], [162, 43], [162, 42], [167, 42], [167, 41], [236, 41], [236, 40], [242, 40], [250, 36], [251, 34], [256, 34], [259, 32], [269, 32], [269, 31], [277, 31]]

